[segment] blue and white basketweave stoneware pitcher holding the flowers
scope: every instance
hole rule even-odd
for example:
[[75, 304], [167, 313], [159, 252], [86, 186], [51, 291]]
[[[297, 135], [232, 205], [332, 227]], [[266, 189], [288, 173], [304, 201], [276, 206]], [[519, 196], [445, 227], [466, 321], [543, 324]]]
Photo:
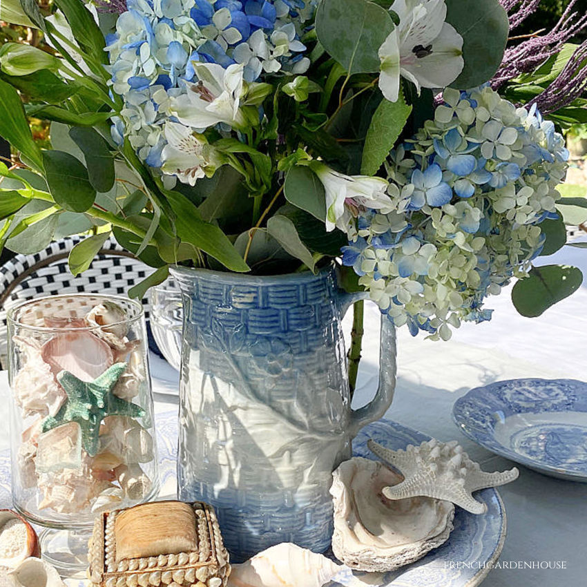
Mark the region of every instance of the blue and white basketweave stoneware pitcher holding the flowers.
[[382, 318], [374, 400], [352, 410], [341, 320], [365, 294], [341, 290], [334, 267], [270, 277], [171, 272], [184, 307], [180, 499], [216, 508], [234, 562], [280, 542], [327, 550], [331, 472], [392, 402], [394, 327]]

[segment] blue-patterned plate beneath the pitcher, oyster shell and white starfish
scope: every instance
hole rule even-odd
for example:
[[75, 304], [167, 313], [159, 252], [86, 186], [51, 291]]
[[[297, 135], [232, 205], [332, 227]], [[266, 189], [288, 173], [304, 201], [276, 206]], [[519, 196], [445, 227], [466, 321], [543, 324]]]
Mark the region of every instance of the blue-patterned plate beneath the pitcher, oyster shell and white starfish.
[[[162, 494], [169, 490], [175, 477], [177, 454], [177, 412], [156, 414], [157, 450], [160, 461]], [[430, 440], [430, 436], [416, 432], [396, 422], [380, 420], [361, 430], [354, 440], [354, 454], [374, 459], [367, 450], [367, 440], [387, 448], [405, 448]], [[343, 567], [329, 587], [475, 587], [485, 579], [492, 564], [497, 561], [506, 538], [506, 511], [499, 494], [485, 489], [475, 497], [487, 504], [485, 514], [474, 515], [456, 508], [454, 530], [443, 546], [430, 551], [423, 559], [394, 572], [365, 573]], [[10, 454], [0, 452], [0, 508], [9, 508]], [[86, 581], [66, 579], [68, 586], [85, 587]]]

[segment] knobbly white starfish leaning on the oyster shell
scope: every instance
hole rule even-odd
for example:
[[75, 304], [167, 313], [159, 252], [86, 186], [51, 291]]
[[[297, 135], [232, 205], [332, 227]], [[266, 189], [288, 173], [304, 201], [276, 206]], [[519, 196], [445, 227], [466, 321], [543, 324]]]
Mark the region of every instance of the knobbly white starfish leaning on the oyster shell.
[[432, 439], [419, 446], [407, 445], [405, 450], [389, 450], [372, 440], [367, 446], [403, 474], [401, 483], [383, 489], [389, 499], [423, 495], [452, 501], [472, 514], [484, 514], [487, 504], [474, 499], [472, 492], [510, 483], [519, 475], [515, 467], [501, 473], [482, 471], [456, 441]]

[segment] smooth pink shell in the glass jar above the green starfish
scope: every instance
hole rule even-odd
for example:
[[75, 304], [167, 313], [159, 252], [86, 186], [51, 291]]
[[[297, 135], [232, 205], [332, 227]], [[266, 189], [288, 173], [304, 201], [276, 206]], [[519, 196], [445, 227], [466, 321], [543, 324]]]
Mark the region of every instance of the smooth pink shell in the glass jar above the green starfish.
[[68, 371], [81, 381], [93, 381], [114, 364], [104, 340], [84, 331], [57, 334], [41, 347], [41, 357], [54, 375]]

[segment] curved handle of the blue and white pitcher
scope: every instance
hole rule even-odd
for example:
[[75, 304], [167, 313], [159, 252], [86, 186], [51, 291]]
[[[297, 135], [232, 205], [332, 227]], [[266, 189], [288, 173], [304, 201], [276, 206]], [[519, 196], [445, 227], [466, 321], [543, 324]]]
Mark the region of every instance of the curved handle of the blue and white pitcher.
[[[345, 316], [347, 310], [358, 300], [368, 299], [364, 291], [357, 294], [340, 292], [340, 313]], [[358, 431], [369, 423], [372, 423], [385, 414], [392, 405], [396, 389], [397, 374], [397, 339], [396, 327], [392, 321], [381, 314], [381, 336], [379, 338], [379, 383], [377, 392], [369, 403], [357, 410], [352, 410], [350, 432], [351, 437], [356, 436]]]

